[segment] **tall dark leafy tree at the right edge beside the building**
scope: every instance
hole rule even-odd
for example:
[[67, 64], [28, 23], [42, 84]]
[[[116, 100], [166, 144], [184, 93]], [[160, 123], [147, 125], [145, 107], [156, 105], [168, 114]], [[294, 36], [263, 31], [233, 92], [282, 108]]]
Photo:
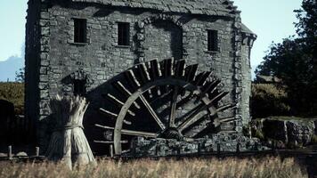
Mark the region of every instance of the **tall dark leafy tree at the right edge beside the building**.
[[317, 115], [317, 2], [304, 0], [296, 10], [295, 38], [272, 44], [256, 69], [257, 75], [280, 77], [289, 93], [291, 110], [297, 115]]

